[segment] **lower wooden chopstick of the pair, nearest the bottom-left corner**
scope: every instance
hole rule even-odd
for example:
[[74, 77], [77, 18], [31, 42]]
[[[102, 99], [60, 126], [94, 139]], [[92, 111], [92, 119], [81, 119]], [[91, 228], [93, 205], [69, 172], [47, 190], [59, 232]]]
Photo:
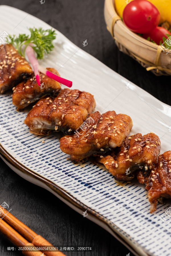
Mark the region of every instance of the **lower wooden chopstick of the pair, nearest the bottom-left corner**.
[[[0, 220], [0, 231], [17, 247], [34, 246], [32, 243], [29, 243], [25, 238], [23, 238], [19, 233], [17, 233], [17, 231], [11, 228], [11, 226], [9, 226], [4, 220]], [[41, 251], [22, 251], [22, 253], [26, 256], [40, 256], [42, 254]], [[46, 255], [44, 254], [44, 256]]]

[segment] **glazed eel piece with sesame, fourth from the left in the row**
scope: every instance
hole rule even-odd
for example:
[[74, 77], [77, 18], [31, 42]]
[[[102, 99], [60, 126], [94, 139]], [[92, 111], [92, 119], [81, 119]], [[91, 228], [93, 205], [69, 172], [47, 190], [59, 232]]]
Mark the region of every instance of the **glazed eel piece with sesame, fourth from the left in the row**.
[[69, 154], [74, 162], [80, 162], [92, 154], [103, 154], [111, 148], [121, 146], [132, 126], [128, 115], [116, 114], [115, 111], [101, 115], [97, 111], [88, 116], [75, 134], [60, 139], [60, 149]]

